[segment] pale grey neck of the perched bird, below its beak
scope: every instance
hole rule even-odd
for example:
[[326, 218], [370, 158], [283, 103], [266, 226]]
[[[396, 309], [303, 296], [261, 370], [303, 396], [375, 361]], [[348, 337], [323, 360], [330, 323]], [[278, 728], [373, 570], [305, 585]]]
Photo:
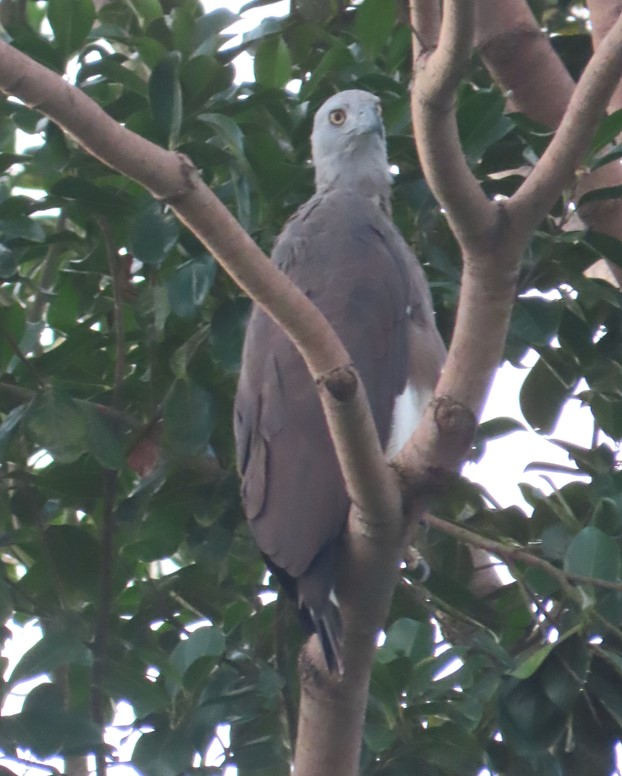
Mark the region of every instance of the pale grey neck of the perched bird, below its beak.
[[315, 169], [318, 194], [328, 191], [355, 191], [377, 202], [386, 213], [391, 211], [391, 176], [386, 156], [370, 155], [361, 149], [335, 152]]

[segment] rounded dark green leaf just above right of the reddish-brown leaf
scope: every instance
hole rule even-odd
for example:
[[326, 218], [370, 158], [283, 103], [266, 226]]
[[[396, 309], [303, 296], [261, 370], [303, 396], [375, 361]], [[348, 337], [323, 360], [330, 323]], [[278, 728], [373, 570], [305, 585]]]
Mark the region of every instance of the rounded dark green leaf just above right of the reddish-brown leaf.
[[213, 425], [212, 399], [192, 380], [176, 380], [164, 403], [164, 438], [182, 456], [206, 452]]

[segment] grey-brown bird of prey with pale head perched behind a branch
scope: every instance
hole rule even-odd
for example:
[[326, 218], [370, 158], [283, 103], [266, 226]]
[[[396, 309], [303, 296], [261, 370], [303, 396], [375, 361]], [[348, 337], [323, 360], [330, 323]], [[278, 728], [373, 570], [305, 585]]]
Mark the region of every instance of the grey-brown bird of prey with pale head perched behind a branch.
[[[318, 307], [367, 392], [387, 459], [429, 402], [445, 346], [421, 265], [391, 217], [381, 102], [350, 89], [317, 110], [315, 194], [286, 223], [272, 261]], [[242, 506], [254, 538], [331, 673], [343, 674], [337, 564], [350, 499], [315, 383], [257, 305], [234, 401]]]

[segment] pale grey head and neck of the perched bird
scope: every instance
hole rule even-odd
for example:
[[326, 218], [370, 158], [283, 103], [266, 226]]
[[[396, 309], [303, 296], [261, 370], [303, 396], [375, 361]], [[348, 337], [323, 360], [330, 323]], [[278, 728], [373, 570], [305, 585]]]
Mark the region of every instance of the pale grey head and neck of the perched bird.
[[318, 193], [350, 189], [388, 207], [391, 176], [378, 97], [360, 89], [329, 97], [315, 114], [311, 148]]

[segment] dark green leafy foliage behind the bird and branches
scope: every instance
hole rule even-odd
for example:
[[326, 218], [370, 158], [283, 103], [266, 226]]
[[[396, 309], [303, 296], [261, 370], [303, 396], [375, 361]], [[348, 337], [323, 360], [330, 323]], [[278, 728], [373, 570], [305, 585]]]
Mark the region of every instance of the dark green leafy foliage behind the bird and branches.
[[[580, 71], [581, 19], [567, 3], [533, 7]], [[460, 261], [413, 148], [409, 30], [397, 2], [365, 0], [321, 22], [269, 18], [226, 50], [234, 14], [205, 13], [198, 0], [23, 10], [6, 23], [13, 45], [70, 73], [116, 120], [191, 157], [266, 251], [312, 190], [315, 108], [339, 89], [380, 95], [399, 168], [394, 216], [449, 337]], [[255, 56], [254, 83], [234, 82], [241, 50]], [[284, 88], [292, 80], [297, 93]], [[477, 61], [459, 122], [491, 197], [514, 191], [548, 141], [504, 113]], [[609, 146], [621, 123], [603, 123], [587, 166], [604, 148], [620, 154]], [[19, 152], [18, 130], [27, 137]], [[241, 515], [232, 452], [248, 303], [164, 205], [14, 100], [0, 106], [0, 165], [0, 609], [3, 621], [43, 629], [3, 692], [48, 678], [3, 721], [0, 748], [9, 757], [101, 752], [101, 724], [123, 699], [142, 732], [132, 759], [141, 773], [222, 773], [234, 763], [240, 776], [286, 774], [299, 636], [292, 643], [287, 605], [261, 596], [272, 582]], [[622, 246], [569, 230], [571, 202], [568, 192], [531, 242], [506, 358], [538, 354], [521, 393], [533, 428], [550, 433], [580, 390], [615, 443], [622, 305], [583, 272], [599, 255], [620, 265]], [[485, 424], [474, 456], [514, 430], [503, 419]], [[378, 651], [367, 776], [613, 770], [622, 588], [595, 581], [620, 582], [622, 474], [610, 445], [562, 446], [574, 480], [552, 495], [524, 486], [530, 515], [466, 482], [436, 512], [591, 581], [569, 591], [515, 558], [515, 581], [482, 599], [469, 588], [464, 547], [430, 530], [430, 578], [423, 586], [404, 570]], [[223, 724], [223, 762], [197, 765]]]

